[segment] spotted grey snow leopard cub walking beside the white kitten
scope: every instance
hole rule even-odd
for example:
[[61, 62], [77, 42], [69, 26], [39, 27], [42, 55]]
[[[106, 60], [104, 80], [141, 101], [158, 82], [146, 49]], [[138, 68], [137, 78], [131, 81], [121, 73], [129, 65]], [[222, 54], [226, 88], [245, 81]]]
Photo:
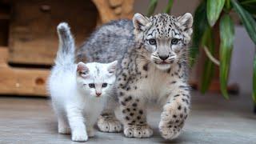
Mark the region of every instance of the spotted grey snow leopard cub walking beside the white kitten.
[[[134, 14], [132, 21], [110, 22], [91, 35], [78, 50], [77, 61], [110, 62], [118, 58], [118, 102], [124, 134], [148, 138], [153, 130], [146, 122], [146, 104], [162, 105], [159, 130], [163, 138], [177, 138], [190, 111], [187, 84], [187, 51], [193, 17]], [[114, 106], [109, 103], [98, 121], [100, 130], [118, 131]]]

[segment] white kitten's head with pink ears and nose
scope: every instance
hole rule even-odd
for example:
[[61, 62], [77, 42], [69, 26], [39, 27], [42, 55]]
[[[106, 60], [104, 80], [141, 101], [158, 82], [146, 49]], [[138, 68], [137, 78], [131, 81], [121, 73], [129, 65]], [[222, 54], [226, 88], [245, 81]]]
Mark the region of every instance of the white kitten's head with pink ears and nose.
[[115, 82], [117, 61], [110, 63], [83, 63], [77, 66], [78, 88], [90, 97], [106, 96]]

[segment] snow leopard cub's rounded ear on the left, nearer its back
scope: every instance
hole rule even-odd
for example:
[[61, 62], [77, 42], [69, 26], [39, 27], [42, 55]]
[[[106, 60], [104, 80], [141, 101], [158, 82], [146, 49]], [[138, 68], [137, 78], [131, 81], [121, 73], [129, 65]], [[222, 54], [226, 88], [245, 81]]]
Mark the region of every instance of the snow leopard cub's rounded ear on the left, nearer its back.
[[134, 29], [138, 31], [144, 31], [150, 24], [150, 19], [142, 14], [134, 14], [133, 18]]

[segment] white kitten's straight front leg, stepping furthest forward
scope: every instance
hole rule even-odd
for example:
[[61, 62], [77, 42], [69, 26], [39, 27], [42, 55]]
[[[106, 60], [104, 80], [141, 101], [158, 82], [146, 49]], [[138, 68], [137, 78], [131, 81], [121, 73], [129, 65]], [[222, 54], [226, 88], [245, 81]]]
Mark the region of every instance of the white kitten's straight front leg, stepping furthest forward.
[[67, 106], [67, 118], [70, 123], [72, 141], [85, 142], [88, 140], [86, 125], [82, 115], [82, 110], [78, 107]]

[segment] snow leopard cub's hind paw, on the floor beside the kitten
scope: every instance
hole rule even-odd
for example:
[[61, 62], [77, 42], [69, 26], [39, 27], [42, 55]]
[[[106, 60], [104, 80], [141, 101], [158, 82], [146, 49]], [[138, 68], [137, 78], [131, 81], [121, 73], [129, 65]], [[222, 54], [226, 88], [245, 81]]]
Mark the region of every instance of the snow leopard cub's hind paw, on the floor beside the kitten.
[[118, 119], [110, 117], [110, 118], [104, 118], [100, 116], [98, 118], [98, 129], [103, 132], [120, 132], [122, 130], [122, 123], [118, 121]]

